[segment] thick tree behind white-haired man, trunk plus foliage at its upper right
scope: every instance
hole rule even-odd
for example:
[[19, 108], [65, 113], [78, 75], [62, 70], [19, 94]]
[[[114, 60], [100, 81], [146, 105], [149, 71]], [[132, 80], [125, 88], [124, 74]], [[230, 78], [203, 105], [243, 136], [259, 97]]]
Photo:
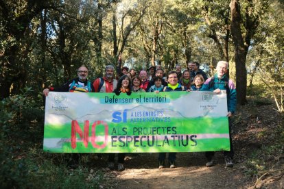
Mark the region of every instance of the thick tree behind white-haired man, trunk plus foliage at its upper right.
[[251, 40], [257, 33], [259, 18], [268, 8], [268, 1], [254, 2], [252, 0], [248, 0], [243, 5], [244, 18], [242, 17], [243, 12], [241, 11], [242, 7], [239, 0], [232, 0], [230, 2], [230, 32], [235, 46], [237, 103], [240, 105], [244, 105], [246, 103], [246, 56], [251, 45]]

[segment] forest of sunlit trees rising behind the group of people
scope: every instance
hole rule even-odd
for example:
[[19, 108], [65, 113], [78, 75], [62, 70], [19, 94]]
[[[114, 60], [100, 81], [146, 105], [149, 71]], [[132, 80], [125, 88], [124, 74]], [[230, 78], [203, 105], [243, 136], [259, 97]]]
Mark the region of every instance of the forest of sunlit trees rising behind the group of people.
[[26, 0], [0, 8], [1, 99], [58, 86], [80, 65], [95, 79], [106, 64], [119, 66], [119, 55], [137, 70], [197, 61], [209, 75], [226, 60], [241, 105], [256, 78], [277, 86], [274, 98], [283, 94], [282, 1]]

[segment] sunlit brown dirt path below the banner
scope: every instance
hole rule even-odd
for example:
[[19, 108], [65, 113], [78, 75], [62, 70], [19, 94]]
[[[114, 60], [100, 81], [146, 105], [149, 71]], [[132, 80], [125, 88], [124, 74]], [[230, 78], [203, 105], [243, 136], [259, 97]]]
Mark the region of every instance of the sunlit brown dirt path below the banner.
[[[128, 157], [128, 158], [127, 158]], [[248, 179], [240, 173], [238, 164], [224, 168], [224, 155], [216, 153], [216, 165], [207, 168], [204, 153], [178, 153], [177, 168], [158, 169], [157, 153], [130, 154], [126, 170], [110, 171], [117, 180], [104, 188], [248, 188]]]

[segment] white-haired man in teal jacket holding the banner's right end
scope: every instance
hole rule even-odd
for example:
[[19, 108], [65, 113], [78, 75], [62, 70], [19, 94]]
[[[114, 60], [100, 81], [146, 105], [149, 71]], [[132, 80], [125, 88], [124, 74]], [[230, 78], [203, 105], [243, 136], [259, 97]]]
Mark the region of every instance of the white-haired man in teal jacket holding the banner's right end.
[[[230, 136], [230, 151], [224, 151], [224, 156], [225, 156], [225, 162], [226, 166], [225, 167], [233, 167], [233, 145], [232, 145], [232, 137], [230, 134], [230, 128], [232, 127], [232, 123], [230, 121], [230, 116], [233, 115], [235, 112], [235, 107], [237, 103], [237, 93], [236, 93], [236, 88], [235, 84], [231, 79], [228, 79], [226, 76], [226, 73], [228, 71], [228, 62], [226, 61], [220, 61], [217, 63], [216, 66], [217, 73], [207, 79], [203, 86], [202, 89], [203, 91], [213, 91], [215, 94], [220, 94], [221, 90], [226, 90], [227, 94], [227, 105], [228, 105], [228, 121], [229, 121], [229, 136]], [[213, 156], [214, 156], [214, 151], [206, 151], [205, 156], [207, 158], [207, 163], [206, 166], [213, 166]]]

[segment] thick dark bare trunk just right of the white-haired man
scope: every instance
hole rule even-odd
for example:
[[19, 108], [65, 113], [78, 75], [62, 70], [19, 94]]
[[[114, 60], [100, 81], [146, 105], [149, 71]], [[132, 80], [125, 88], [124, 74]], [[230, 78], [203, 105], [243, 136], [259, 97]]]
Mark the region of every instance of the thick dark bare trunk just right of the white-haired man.
[[246, 55], [247, 50], [244, 45], [244, 38], [241, 36], [241, 9], [238, 0], [232, 0], [230, 3], [231, 24], [230, 32], [235, 46], [236, 63], [236, 84], [237, 84], [237, 103], [244, 105], [246, 101]]

